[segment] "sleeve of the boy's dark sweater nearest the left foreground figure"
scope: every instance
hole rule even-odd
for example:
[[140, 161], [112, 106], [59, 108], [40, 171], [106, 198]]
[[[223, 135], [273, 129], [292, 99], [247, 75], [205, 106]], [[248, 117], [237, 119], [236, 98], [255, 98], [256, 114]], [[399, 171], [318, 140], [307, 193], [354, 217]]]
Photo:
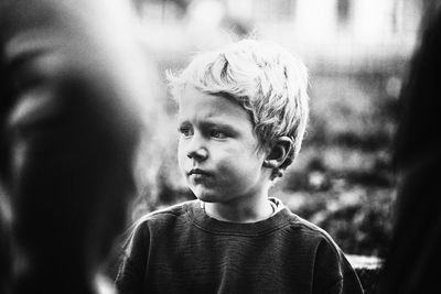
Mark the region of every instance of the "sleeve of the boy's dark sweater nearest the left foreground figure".
[[149, 229], [144, 222], [141, 222], [133, 229], [126, 244], [116, 277], [116, 286], [119, 294], [138, 294], [143, 292], [149, 236]]

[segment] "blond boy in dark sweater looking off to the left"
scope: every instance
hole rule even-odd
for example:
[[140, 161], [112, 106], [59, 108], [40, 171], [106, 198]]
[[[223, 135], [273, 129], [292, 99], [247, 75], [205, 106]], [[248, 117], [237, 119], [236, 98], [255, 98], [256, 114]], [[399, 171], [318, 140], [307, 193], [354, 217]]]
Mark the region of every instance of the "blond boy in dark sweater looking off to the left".
[[139, 220], [120, 293], [363, 293], [331, 237], [268, 197], [301, 146], [305, 67], [276, 44], [244, 40], [170, 81], [179, 164], [197, 199]]

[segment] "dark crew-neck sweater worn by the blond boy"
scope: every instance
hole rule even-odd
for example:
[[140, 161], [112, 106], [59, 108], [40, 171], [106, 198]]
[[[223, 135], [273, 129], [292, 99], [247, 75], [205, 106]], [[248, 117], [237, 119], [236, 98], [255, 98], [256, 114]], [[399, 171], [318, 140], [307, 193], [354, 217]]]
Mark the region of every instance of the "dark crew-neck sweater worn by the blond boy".
[[141, 218], [126, 250], [120, 294], [363, 293], [331, 237], [287, 208], [237, 224], [187, 202]]

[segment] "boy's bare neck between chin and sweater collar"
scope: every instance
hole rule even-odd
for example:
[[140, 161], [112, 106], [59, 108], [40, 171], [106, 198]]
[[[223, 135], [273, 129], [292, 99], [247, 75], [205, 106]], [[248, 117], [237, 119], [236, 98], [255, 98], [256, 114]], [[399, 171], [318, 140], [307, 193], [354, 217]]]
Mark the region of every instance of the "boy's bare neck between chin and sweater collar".
[[268, 196], [238, 198], [227, 203], [203, 203], [205, 213], [215, 219], [232, 222], [256, 222], [275, 213]]

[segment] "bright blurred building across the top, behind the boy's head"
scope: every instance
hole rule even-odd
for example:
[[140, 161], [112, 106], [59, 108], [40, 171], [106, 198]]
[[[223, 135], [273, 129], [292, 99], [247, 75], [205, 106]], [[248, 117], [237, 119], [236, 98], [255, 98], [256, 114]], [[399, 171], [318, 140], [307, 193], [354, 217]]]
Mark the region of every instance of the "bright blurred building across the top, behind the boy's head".
[[310, 66], [375, 66], [407, 58], [421, 0], [138, 1], [148, 42], [161, 58], [254, 34], [295, 50]]

